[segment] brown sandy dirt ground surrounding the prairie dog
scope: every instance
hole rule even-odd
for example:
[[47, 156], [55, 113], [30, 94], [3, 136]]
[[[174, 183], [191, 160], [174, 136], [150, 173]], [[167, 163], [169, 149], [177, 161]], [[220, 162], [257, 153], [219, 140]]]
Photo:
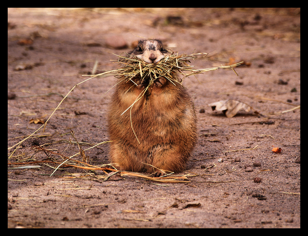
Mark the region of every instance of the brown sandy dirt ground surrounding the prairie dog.
[[[71, 130], [83, 150], [108, 141], [112, 76], [77, 86], [44, 133], [14, 146], [41, 126], [31, 119], [46, 121], [89, 78], [82, 75], [95, 62], [115, 68], [114, 54], [139, 36], [161, 38], [179, 53], [209, 53], [197, 69], [245, 62], [239, 76], [219, 69], [184, 82], [200, 135], [181, 173], [189, 182], [119, 173], [104, 181], [112, 172], [65, 166], [50, 176], [57, 165], [48, 162], [11, 169], [78, 153]], [[114, 37], [128, 47], [108, 47]], [[300, 228], [300, 8], [8, 8], [7, 42], [8, 228]], [[226, 99], [265, 115], [226, 118], [208, 106]], [[85, 155], [99, 166], [108, 163], [107, 150], [102, 144]]]

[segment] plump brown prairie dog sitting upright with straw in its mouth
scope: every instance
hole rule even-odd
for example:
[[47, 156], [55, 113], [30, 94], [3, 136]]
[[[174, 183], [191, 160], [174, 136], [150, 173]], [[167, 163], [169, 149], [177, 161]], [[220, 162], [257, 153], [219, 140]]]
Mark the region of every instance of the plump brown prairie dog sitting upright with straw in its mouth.
[[[161, 41], [151, 39], [140, 40], [129, 54], [147, 63], [157, 63], [170, 53]], [[162, 77], [135, 102], [150, 79], [133, 80], [135, 83], [118, 78], [111, 97], [110, 162], [118, 170], [155, 173], [155, 176], [164, 175], [165, 171], [184, 170], [197, 142], [193, 99], [180, 83]]]

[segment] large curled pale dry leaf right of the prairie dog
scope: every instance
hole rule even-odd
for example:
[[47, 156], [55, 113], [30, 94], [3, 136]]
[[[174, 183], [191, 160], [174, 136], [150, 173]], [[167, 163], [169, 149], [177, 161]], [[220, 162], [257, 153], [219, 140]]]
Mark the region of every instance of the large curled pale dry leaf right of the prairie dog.
[[231, 118], [241, 109], [249, 112], [252, 108], [247, 104], [235, 100], [223, 100], [209, 104], [212, 110], [224, 111], [226, 117]]

